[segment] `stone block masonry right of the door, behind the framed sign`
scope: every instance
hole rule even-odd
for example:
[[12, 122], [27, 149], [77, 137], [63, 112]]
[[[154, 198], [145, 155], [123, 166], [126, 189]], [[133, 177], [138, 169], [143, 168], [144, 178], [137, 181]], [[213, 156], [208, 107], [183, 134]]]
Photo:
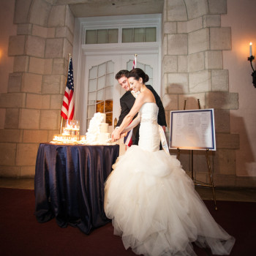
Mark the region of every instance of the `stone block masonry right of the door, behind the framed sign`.
[[[222, 61], [222, 51], [231, 50], [231, 29], [221, 26], [221, 15], [226, 12], [226, 0], [165, 1], [162, 102], [168, 126], [170, 111], [183, 110], [185, 100], [187, 110], [198, 109], [197, 99], [201, 108], [214, 108], [217, 151], [210, 152], [210, 159], [215, 184], [244, 186], [236, 176], [239, 136], [230, 134], [230, 110], [238, 109], [238, 94], [229, 92], [228, 70], [223, 69]], [[193, 153], [195, 178], [209, 182], [205, 152]], [[191, 172], [191, 152], [181, 151], [180, 159], [184, 169]]]

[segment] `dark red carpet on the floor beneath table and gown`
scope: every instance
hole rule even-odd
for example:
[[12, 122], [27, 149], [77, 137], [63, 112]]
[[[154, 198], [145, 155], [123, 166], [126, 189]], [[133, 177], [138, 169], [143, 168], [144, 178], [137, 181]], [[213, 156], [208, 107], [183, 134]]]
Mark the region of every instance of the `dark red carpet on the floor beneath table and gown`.
[[[232, 256], [255, 255], [256, 203], [205, 201], [214, 219], [236, 238]], [[198, 256], [211, 252], [194, 246]], [[111, 223], [89, 236], [78, 228], [61, 228], [55, 219], [38, 223], [34, 216], [34, 190], [0, 188], [0, 255], [135, 255], [125, 250], [121, 238], [113, 235]]]

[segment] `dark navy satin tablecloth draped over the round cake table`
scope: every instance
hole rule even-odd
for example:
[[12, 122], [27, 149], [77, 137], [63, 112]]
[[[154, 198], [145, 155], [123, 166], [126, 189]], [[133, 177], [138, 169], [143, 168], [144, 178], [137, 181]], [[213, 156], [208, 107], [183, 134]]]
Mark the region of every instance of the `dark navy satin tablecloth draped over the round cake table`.
[[34, 178], [38, 222], [56, 218], [89, 234], [109, 222], [104, 211], [104, 183], [119, 154], [119, 146], [41, 143]]

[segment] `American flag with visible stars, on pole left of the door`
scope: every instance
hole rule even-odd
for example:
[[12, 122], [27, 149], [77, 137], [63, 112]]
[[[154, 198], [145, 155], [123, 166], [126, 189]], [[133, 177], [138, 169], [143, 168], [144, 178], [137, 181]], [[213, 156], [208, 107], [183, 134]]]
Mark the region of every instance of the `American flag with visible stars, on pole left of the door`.
[[66, 90], [61, 107], [61, 116], [64, 119], [72, 120], [74, 117], [75, 100], [74, 100], [74, 77], [73, 77], [73, 64], [72, 58], [69, 57], [69, 69], [67, 72]]

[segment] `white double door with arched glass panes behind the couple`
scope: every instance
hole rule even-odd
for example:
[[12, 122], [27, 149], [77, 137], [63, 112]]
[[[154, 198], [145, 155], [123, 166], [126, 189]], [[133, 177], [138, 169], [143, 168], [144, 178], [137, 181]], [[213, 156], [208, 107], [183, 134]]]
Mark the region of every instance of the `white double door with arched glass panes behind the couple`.
[[[111, 79], [113, 83], [113, 120], [112, 124], [114, 124], [115, 118], [118, 120], [118, 117], [121, 113], [121, 106], [120, 106], [120, 98], [125, 93], [124, 89], [118, 84], [118, 81], [115, 79], [116, 73], [121, 69], [132, 69], [132, 61], [134, 59], [134, 54], [113, 54], [113, 55], [106, 55], [106, 54], [95, 54], [84, 56], [83, 58], [83, 67], [84, 67], [84, 75], [83, 80], [80, 83], [80, 86], [83, 86], [83, 93], [78, 94], [77, 97], [80, 97], [79, 102], [81, 102], [79, 108], [77, 109], [78, 116], [82, 120], [80, 120], [80, 133], [82, 135], [86, 134], [87, 124], [86, 119], [87, 116], [87, 104], [89, 99], [89, 74], [90, 70], [93, 67], [99, 66], [104, 64], [108, 61], [113, 63], [113, 79]], [[159, 93], [159, 67], [158, 67], [158, 54], [139, 54], [137, 56], [137, 67], [143, 69], [146, 73], [147, 70], [150, 74], [149, 78], [151, 82], [151, 86]], [[146, 69], [146, 70], [145, 70]], [[149, 84], [149, 83], [148, 83]], [[110, 127], [109, 132], [113, 131], [113, 125]]]

